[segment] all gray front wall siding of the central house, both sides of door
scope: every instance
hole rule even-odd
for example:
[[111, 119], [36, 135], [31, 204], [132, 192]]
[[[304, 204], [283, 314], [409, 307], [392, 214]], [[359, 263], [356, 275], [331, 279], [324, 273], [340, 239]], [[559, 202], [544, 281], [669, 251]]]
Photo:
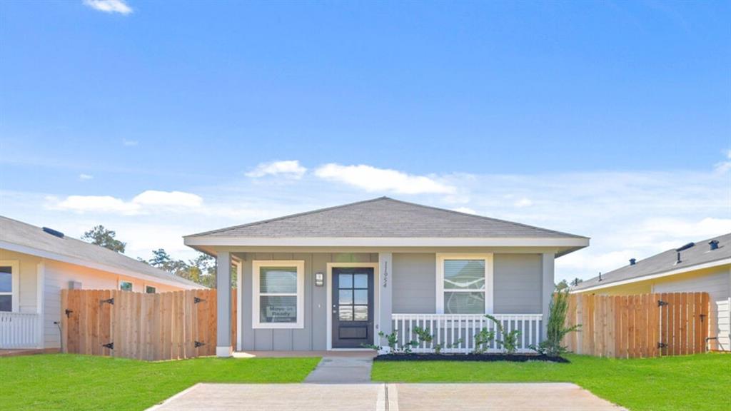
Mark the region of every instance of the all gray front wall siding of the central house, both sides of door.
[[[378, 254], [246, 253], [243, 260], [241, 326], [243, 350], [326, 350], [327, 284], [314, 286], [314, 273], [326, 273], [327, 263], [377, 263]], [[251, 328], [253, 260], [303, 260], [305, 262], [304, 328]], [[395, 253], [390, 269], [393, 313], [436, 313], [436, 254]], [[493, 255], [493, 307], [496, 314], [542, 312], [542, 254]]]

